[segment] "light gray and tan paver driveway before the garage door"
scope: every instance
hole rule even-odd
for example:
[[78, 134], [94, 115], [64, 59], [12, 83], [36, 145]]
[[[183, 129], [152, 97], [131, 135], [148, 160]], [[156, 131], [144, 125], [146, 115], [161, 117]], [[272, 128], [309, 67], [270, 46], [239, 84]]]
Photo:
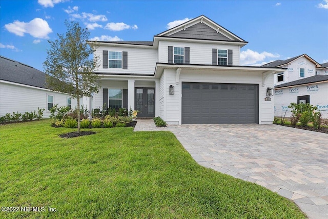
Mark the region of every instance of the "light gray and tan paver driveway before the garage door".
[[169, 126], [202, 166], [293, 200], [328, 218], [328, 134], [278, 125]]

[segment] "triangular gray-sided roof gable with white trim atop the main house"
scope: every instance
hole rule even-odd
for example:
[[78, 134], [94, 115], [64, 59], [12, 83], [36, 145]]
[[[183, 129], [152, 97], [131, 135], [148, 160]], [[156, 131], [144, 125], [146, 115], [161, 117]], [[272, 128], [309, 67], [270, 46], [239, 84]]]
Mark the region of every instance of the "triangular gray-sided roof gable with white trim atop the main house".
[[191, 19], [156, 36], [210, 39], [217, 41], [245, 42], [242, 38], [221, 27], [204, 15]]

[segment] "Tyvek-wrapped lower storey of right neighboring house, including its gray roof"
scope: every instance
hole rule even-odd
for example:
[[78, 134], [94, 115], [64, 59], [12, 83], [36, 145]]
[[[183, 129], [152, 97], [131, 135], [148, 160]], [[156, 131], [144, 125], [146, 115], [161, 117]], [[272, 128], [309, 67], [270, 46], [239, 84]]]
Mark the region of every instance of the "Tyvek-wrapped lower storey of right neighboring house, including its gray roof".
[[291, 103], [309, 103], [328, 118], [328, 75], [315, 75], [275, 86], [275, 116], [291, 116]]

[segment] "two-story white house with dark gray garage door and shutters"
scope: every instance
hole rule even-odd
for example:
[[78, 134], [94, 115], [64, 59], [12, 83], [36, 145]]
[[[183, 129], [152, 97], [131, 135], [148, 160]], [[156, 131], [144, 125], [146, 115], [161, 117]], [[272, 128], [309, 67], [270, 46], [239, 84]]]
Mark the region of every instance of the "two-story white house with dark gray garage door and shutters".
[[272, 124], [274, 74], [285, 69], [240, 66], [242, 38], [206, 16], [166, 30], [153, 41], [98, 42], [101, 89], [96, 108], [139, 110], [168, 124]]

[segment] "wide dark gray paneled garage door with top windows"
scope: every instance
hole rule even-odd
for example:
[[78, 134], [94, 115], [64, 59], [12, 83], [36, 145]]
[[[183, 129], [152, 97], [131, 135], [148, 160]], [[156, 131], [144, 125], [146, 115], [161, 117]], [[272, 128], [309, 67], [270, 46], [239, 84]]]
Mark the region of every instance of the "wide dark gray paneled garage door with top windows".
[[258, 85], [182, 83], [182, 124], [258, 124]]

